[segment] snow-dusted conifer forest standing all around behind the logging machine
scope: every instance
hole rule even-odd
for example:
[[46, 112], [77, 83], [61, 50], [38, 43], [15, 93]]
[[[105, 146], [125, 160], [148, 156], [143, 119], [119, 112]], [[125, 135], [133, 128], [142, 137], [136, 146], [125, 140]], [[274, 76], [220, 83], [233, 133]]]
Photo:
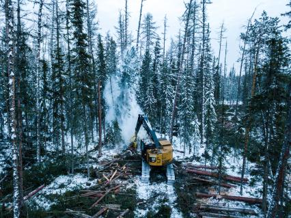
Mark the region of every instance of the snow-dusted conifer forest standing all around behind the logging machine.
[[[169, 49], [165, 42], [171, 23], [165, 16], [160, 36], [152, 14], [143, 16], [144, 0], [137, 36], [128, 29], [126, 0], [115, 27], [117, 37], [100, 35], [94, 1], [40, 0], [33, 3], [38, 12], [32, 19], [21, 3], [30, 2], [5, 0], [0, 45], [0, 134], [12, 141], [15, 217], [20, 213], [17, 205], [23, 205], [23, 168], [40, 165], [53, 153], [64, 156], [68, 172], [74, 174], [76, 150], [84, 148], [89, 177], [89, 145], [98, 141], [94, 149], [101, 155], [102, 145], [121, 141], [117, 120], [105, 122], [105, 87], [113, 95], [116, 77], [121, 90], [117, 100], [128, 103], [126, 90], [134, 90], [156, 132], [174, 143], [180, 139], [184, 154], [218, 165], [222, 174], [227, 153], [236, 148], [243, 155], [242, 178], [247, 159], [259, 163], [266, 214], [285, 148], [290, 100], [290, 38], [283, 36], [279, 18], [266, 12], [249, 18], [240, 36], [236, 72], [226, 64], [223, 23], [218, 56], [212, 51], [208, 0], [185, 4], [181, 30]], [[122, 116], [119, 108], [115, 112]], [[281, 208], [288, 200], [284, 193]]]

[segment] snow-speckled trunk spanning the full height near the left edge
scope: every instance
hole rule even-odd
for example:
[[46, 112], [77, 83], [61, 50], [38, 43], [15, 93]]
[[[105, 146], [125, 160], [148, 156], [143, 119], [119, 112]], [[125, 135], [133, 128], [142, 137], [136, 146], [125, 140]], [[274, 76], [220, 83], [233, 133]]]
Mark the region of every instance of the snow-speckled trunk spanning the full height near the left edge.
[[16, 111], [15, 111], [15, 72], [14, 72], [14, 10], [11, 0], [5, 0], [5, 27], [7, 38], [7, 68], [10, 100], [10, 141], [12, 146], [13, 169], [13, 217], [20, 217], [19, 208], [19, 174], [18, 174], [18, 146], [16, 139]]

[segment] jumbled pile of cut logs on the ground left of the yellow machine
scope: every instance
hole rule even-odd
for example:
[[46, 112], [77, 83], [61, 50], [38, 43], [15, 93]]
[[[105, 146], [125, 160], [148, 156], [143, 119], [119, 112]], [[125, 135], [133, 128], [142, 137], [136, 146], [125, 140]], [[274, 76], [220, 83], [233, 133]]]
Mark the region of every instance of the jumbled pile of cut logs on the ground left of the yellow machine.
[[121, 218], [129, 212], [128, 209], [122, 210], [118, 204], [101, 204], [102, 200], [109, 195], [119, 194], [128, 195], [127, 193], [120, 193], [120, 189], [123, 184], [117, 183], [118, 178], [128, 178], [131, 175], [132, 169], [127, 167], [127, 163], [120, 165], [117, 163], [119, 159], [114, 159], [113, 161], [105, 161], [101, 163], [99, 169], [96, 169], [96, 176], [98, 177], [98, 184], [92, 187], [90, 190], [81, 190], [81, 197], [89, 197], [96, 202], [89, 207], [93, 209], [96, 206], [100, 206], [100, 210], [93, 215], [89, 216], [83, 213], [83, 211], [75, 211], [67, 209], [66, 213], [72, 217], [83, 217], [83, 218], [96, 218], [100, 217], [104, 213], [108, 213], [109, 210], [117, 213], [117, 217]]

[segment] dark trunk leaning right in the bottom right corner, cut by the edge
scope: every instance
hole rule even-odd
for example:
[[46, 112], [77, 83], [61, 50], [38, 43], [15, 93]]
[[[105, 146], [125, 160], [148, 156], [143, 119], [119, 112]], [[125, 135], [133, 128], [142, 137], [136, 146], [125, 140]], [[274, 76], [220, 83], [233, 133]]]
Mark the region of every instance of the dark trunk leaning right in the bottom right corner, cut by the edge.
[[286, 174], [286, 168], [288, 165], [288, 159], [290, 155], [290, 146], [291, 146], [291, 82], [288, 85], [288, 118], [286, 121], [286, 128], [285, 128], [285, 137], [284, 143], [281, 148], [281, 155], [279, 159], [279, 165], [277, 168], [275, 182], [274, 182], [274, 189], [271, 197], [271, 202], [269, 202], [268, 214], [267, 218], [275, 218], [277, 215], [277, 210], [279, 208], [279, 200], [281, 197], [283, 185], [284, 185], [284, 178]]

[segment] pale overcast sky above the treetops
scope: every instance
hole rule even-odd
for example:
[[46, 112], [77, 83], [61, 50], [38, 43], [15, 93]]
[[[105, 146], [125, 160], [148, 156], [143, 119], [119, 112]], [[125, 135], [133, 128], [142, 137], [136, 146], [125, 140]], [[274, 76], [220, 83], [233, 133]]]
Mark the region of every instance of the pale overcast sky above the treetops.
[[[114, 26], [117, 25], [118, 13], [124, 10], [125, 0], [95, 0], [98, 5], [98, 21], [102, 33], [110, 31], [115, 34]], [[184, 0], [188, 2], [187, 0]], [[170, 38], [178, 35], [180, 29], [179, 17], [184, 12], [183, 0], [146, 0], [143, 3], [143, 14], [152, 13], [154, 21], [161, 27], [158, 33], [163, 31], [163, 18], [167, 14], [168, 18], [168, 42]], [[236, 63], [239, 57], [240, 32], [244, 31], [243, 26], [247, 24], [247, 19], [257, 8], [254, 18], [258, 18], [263, 10], [266, 10], [269, 16], [279, 16], [282, 23], [287, 23], [287, 18], [282, 18], [280, 14], [286, 12], [286, 4], [289, 0], [212, 0], [208, 5], [208, 22], [211, 28], [212, 47], [214, 53], [218, 53], [218, 31], [219, 26], [224, 21], [227, 28], [227, 65], [229, 68]], [[140, 0], [128, 0], [128, 9], [130, 12], [130, 31], [136, 37], [137, 25], [139, 20]], [[289, 35], [290, 32], [288, 33]]]

